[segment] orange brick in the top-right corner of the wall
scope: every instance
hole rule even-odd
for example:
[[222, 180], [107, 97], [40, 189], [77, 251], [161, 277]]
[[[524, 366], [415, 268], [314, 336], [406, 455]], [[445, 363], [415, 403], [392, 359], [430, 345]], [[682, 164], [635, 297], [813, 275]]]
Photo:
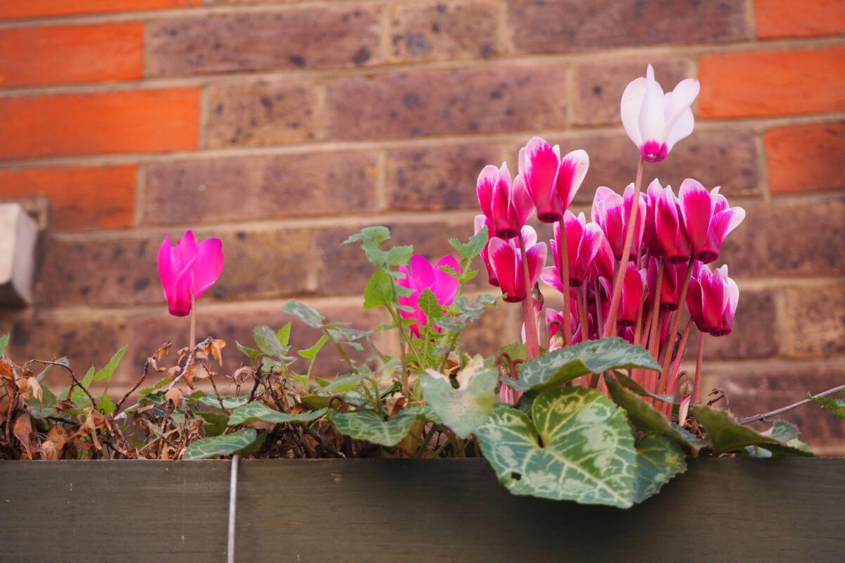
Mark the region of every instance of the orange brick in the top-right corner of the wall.
[[811, 37], [845, 31], [842, 0], [755, 0], [757, 36]]

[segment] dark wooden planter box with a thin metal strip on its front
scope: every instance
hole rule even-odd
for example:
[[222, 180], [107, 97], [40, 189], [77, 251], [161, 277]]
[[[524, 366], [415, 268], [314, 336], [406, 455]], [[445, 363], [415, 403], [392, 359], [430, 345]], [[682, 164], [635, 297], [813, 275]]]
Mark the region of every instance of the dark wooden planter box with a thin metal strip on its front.
[[[845, 459], [690, 466], [621, 511], [510, 495], [482, 459], [247, 460], [237, 560], [842, 560]], [[227, 461], [0, 463], [0, 560], [224, 561], [228, 487]]]

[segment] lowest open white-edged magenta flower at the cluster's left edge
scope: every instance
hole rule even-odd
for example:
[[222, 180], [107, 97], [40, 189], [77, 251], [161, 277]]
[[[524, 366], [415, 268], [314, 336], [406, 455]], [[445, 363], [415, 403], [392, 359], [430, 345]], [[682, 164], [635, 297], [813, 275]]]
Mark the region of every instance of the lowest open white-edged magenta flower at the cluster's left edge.
[[[546, 263], [546, 244], [537, 242], [537, 231], [532, 226], [522, 227], [522, 238], [525, 240], [526, 256], [528, 257], [528, 277], [531, 291], [540, 271]], [[515, 240], [504, 241], [493, 237], [488, 244], [488, 254], [493, 273], [499, 280], [499, 287], [502, 289], [504, 300], [509, 303], [517, 303], [526, 298], [526, 286], [522, 273], [522, 257], [520, 248]]]

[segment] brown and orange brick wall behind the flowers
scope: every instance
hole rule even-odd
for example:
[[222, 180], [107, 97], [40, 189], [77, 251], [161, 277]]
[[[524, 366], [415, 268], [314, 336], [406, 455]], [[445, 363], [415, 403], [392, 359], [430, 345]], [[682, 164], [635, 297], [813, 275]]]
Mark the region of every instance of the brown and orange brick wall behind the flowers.
[[[721, 184], [749, 211], [725, 252], [738, 326], [711, 339], [707, 385], [739, 414], [780, 406], [845, 379], [843, 31], [841, 0], [0, 3], [0, 197], [52, 204], [37, 303], [0, 329], [15, 356], [80, 370], [128, 343], [125, 387], [163, 339], [184, 344], [155, 252], [188, 226], [227, 256], [201, 333], [248, 339], [289, 297], [377, 322], [346, 235], [387, 224], [446, 252], [472, 229], [481, 166], [533, 133], [590, 152], [579, 205], [624, 187], [619, 96], [654, 62], [701, 97], [694, 135], [648, 176]], [[516, 315], [473, 341], [515, 338]], [[845, 451], [835, 420], [793, 419]]]

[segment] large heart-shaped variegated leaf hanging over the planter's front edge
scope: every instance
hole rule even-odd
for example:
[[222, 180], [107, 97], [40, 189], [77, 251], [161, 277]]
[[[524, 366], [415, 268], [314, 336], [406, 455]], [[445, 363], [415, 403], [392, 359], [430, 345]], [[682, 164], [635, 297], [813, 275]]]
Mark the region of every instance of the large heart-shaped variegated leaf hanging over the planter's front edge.
[[537, 396], [532, 415], [497, 405], [475, 432], [511, 493], [634, 504], [636, 451], [622, 409], [595, 389], [558, 387]]

